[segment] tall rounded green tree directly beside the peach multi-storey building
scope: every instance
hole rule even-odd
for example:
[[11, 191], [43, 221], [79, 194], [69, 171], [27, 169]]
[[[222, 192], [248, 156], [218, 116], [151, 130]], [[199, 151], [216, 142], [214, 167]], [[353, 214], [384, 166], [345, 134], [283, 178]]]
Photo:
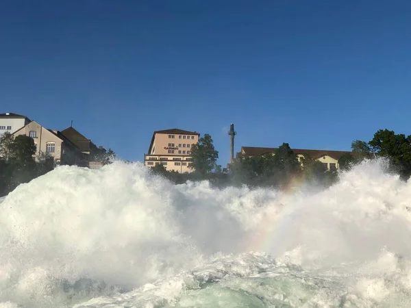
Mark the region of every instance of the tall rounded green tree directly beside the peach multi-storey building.
[[206, 133], [199, 139], [197, 144], [191, 146], [192, 164], [190, 168], [194, 169], [201, 176], [212, 172], [216, 168], [216, 162], [219, 158], [219, 151], [214, 149], [211, 136]]

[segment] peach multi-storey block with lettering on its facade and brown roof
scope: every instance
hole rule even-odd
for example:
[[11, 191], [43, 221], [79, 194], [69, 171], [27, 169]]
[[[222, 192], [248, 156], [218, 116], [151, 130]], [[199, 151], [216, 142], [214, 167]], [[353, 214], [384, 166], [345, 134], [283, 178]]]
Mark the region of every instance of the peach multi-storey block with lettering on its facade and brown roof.
[[196, 131], [182, 129], [154, 131], [148, 154], [144, 156], [145, 166], [162, 164], [169, 171], [192, 172], [188, 168], [192, 162], [190, 149], [199, 142], [199, 136]]

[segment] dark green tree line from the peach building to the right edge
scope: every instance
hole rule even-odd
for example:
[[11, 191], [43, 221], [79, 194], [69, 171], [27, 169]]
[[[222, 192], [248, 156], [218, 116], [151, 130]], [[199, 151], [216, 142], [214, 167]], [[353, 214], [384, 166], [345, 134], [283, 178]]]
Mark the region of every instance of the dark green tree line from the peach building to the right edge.
[[[212, 137], [205, 134], [191, 149], [192, 172], [181, 174], [168, 171], [161, 164], [151, 172], [162, 175], [174, 183], [187, 180], [207, 179], [215, 185], [249, 185], [259, 187], [286, 188], [294, 181], [304, 181], [317, 187], [327, 188], [338, 181], [338, 170], [329, 170], [316, 157], [304, 155], [299, 159], [288, 143], [279, 146], [275, 153], [258, 156], [240, 155], [230, 166], [228, 173], [217, 165], [219, 151], [214, 149]], [[370, 141], [354, 140], [351, 152], [338, 159], [340, 170], [349, 170], [363, 159], [385, 157], [389, 170], [397, 172], [401, 179], [411, 176], [411, 136], [396, 134], [388, 129], [378, 130]]]

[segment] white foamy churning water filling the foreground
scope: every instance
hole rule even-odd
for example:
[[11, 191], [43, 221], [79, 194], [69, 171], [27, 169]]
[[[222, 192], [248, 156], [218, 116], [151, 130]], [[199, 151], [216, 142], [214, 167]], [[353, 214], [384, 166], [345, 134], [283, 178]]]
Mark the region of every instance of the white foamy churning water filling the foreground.
[[411, 307], [411, 183], [319, 192], [62, 166], [0, 201], [0, 308]]

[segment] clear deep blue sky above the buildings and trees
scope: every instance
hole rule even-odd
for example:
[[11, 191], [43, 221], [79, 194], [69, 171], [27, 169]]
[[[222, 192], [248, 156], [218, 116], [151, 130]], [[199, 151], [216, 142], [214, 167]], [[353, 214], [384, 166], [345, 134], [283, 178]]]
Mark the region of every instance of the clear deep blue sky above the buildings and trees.
[[411, 1], [0, 2], [0, 112], [141, 160], [153, 131], [348, 150], [411, 134]]

